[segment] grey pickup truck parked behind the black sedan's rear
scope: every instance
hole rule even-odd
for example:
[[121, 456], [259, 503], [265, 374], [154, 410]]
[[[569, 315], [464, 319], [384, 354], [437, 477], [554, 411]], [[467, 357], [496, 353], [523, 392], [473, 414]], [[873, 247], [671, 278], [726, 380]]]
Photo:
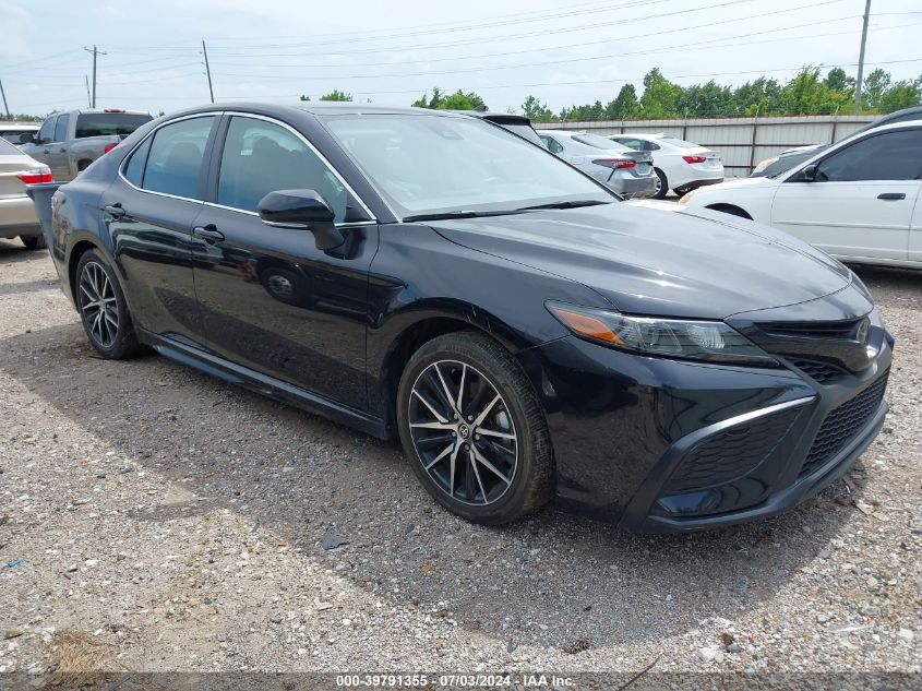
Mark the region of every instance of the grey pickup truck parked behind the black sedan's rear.
[[140, 126], [153, 120], [141, 110], [71, 110], [50, 116], [22, 150], [44, 163], [61, 182], [73, 180]]

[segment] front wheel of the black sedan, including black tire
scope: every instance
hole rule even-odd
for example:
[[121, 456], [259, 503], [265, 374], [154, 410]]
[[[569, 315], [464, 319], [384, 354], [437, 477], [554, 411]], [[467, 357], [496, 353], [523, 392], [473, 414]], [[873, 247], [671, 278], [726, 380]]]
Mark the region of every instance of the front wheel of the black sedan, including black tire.
[[[447, 386], [435, 377], [444, 378]], [[438, 400], [434, 397], [438, 391], [428, 388], [433, 382], [442, 386]], [[444, 391], [447, 388], [454, 397], [460, 383], [464, 383], [460, 416], [455, 422], [450, 410], [457, 413], [458, 408]], [[422, 403], [415, 390], [431, 403]], [[499, 397], [493, 397], [494, 394]], [[480, 398], [484, 403], [478, 403]], [[489, 405], [488, 400], [494, 404]], [[411, 416], [417, 425], [442, 425], [435, 412], [453, 422], [454, 428], [420, 431], [410, 427]], [[419, 418], [420, 414], [432, 421]], [[477, 426], [477, 419], [481, 418], [483, 421]], [[540, 508], [553, 495], [553, 450], [538, 397], [516, 360], [482, 334], [446, 334], [414, 354], [397, 391], [397, 426], [404, 451], [422, 486], [439, 503], [463, 519], [486, 525], [508, 523]], [[500, 439], [502, 436], [513, 439]], [[514, 460], [510, 449], [514, 449]], [[432, 457], [444, 455], [446, 450], [453, 451], [427, 469]], [[452, 476], [453, 456], [455, 475]], [[507, 479], [501, 479], [504, 474]], [[450, 491], [455, 481], [457, 488]]]

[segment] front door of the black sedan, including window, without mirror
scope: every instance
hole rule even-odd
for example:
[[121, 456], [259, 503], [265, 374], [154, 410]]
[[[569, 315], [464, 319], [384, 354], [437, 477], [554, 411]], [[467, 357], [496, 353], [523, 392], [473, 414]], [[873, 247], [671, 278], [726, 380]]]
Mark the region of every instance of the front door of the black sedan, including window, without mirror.
[[[195, 222], [195, 293], [209, 347], [274, 379], [367, 407], [368, 273], [378, 226], [303, 136], [229, 117], [209, 199]], [[213, 166], [214, 169], [214, 166]], [[312, 189], [346, 241], [322, 251], [306, 229], [256, 215], [275, 190]]]

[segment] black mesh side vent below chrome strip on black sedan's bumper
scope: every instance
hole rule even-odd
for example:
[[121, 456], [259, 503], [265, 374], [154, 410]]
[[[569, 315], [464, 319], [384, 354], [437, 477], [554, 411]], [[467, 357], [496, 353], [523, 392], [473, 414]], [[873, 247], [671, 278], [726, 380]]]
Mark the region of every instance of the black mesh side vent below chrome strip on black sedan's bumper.
[[779, 410], [698, 442], [669, 478], [666, 493], [680, 495], [726, 485], [752, 472], [788, 433], [798, 413], [797, 409]]

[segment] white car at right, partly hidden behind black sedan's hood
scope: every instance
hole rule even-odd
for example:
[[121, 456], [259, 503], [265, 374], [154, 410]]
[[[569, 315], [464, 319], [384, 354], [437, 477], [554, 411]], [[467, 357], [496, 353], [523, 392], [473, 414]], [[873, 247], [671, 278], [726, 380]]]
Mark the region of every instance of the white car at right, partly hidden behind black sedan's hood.
[[682, 201], [786, 230], [842, 261], [922, 267], [922, 120], [866, 130], [771, 178]]

